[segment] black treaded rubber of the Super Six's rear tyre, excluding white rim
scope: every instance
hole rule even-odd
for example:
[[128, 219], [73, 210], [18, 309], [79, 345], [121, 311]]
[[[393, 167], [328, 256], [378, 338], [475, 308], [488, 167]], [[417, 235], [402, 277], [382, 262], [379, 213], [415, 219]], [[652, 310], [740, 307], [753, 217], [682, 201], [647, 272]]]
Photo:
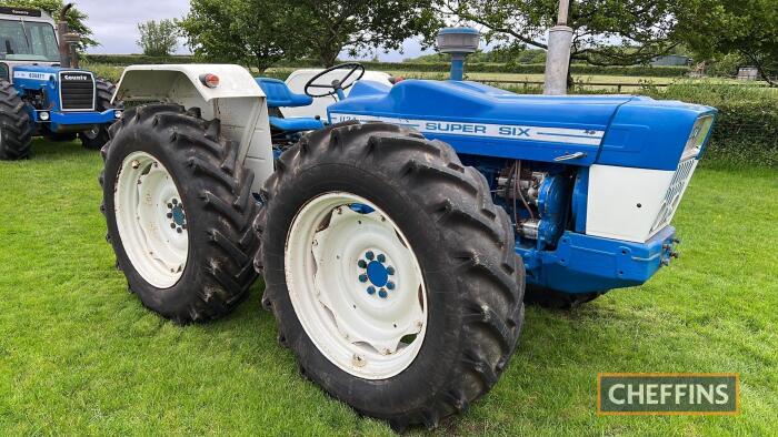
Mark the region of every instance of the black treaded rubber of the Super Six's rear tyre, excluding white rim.
[[[118, 266], [143, 305], [178, 323], [205, 322], [229, 313], [257, 277], [253, 172], [237, 161], [238, 148], [221, 136], [219, 120], [205, 121], [198, 114], [198, 110], [184, 112], [173, 104], [133, 108], [113, 124], [111, 141], [102, 149], [101, 210]], [[153, 287], [139, 274], [117, 226], [113, 193], [118, 172], [126, 156], [137, 151], [156, 156], [170, 171], [186, 205], [188, 258], [180, 280], [166, 289]]]

